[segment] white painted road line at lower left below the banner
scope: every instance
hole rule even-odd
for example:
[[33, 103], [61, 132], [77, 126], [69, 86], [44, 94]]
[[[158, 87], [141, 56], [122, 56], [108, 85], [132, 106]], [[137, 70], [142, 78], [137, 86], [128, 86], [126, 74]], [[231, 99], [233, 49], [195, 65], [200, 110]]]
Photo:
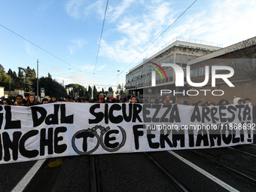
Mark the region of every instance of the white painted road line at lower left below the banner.
[[38, 172], [38, 169], [41, 167], [41, 165], [44, 163], [45, 160], [38, 160], [34, 166], [29, 170], [29, 172], [26, 173], [26, 175], [21, 179], [21, 181], [14, 187], [12, 192], [16, 191], [23, 191], [27, 184], [29, 184], [29, 181], [32, 180], [35, 173]]

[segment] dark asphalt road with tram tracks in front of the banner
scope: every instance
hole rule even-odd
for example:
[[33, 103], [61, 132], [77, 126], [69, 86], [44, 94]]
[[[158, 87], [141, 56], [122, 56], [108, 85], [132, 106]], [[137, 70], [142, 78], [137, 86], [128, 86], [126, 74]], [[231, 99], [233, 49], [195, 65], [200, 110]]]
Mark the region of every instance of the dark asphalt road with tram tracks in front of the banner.
[[[148, 154], [187, 190], [256, 191], [256, 145]], [[99, 191], [182, 191], [144, 153], [95, 157]], [[0, 165], [0, 191], [14, 191], [35, 163]], [[88, 155], [47, 159], [23, 191], [93, 191], [91, 164]]]

